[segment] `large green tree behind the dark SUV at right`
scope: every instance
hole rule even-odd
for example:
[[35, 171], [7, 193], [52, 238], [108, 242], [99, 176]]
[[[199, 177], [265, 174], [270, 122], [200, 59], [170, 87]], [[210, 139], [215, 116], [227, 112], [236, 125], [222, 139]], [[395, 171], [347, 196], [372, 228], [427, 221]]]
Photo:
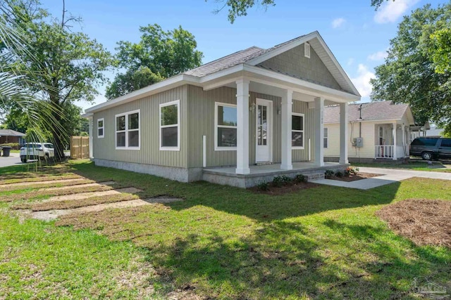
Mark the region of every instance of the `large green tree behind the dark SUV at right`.
[[441, 46], [436, 46], [438, 52], [433, 50], [436, 34], [450, 27], [451, 4], [426, 5], [405, 16], [390, 41], [385, 63], [376, 67], [371, 98], [409, 103], [420, 123], [450, 124], [451, 72], [449, 66], [439, 67], [442, 60], [434, 60]]

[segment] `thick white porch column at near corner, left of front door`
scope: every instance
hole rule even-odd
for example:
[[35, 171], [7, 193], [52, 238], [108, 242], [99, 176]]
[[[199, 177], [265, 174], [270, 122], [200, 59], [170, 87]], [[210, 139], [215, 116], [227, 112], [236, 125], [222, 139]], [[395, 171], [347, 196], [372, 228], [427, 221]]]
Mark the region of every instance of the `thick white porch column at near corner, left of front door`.
[[249, 80], [237, 84], [237, 169], [236, 174], [250, 174], [249, 169]]

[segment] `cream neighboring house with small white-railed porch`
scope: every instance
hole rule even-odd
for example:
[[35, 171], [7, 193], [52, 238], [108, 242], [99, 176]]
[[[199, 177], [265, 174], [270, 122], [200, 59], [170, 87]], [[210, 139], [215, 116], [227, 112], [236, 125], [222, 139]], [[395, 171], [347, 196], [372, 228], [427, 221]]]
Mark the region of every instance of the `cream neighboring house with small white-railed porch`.
[[[324, 108], [324, 156], [338, 161], [340, 156], [340, 107]], [[350, 162], [409, 157], [410, 126], [414, 116], [408, 104], [391, 101], [349, 105], [348, 158]]]

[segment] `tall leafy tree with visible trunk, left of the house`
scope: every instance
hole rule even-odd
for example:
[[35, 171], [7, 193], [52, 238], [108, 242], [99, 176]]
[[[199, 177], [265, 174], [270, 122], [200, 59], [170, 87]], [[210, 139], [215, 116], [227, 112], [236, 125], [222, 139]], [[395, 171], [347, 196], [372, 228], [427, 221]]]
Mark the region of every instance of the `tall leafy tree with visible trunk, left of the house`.
[[74, 22], [79, 20], [68, 15], [64, 1], [59, 19], [49, 15], [37, 0], [8, 0], [2, 6], [6, 20], [26, 41], [22, 45], [25, 50], [11, 57], [12, 63], [30, 82], [30, 92], [51, 105], [52, 115], [61, 125], [49, 128], [56, 157], [61, 159], [70, 134], [70, 118], [76, 115], [73, 103], [94, 100], [97, 86], [106, 80], [103, 71], [111, 65], [111, 55], [97, 41], [74, 30]]

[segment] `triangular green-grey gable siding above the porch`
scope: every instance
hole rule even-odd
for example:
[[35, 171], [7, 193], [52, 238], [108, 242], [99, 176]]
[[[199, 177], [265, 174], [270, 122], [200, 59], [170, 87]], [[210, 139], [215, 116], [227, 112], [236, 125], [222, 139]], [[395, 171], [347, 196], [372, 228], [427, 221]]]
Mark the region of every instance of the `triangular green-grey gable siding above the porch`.
[[313, 48], [310, 48], [310, 58], [304, 56], [304, 44], [265, 60], [259, 67], [341, 90], [340, 84], [333, 78]]

